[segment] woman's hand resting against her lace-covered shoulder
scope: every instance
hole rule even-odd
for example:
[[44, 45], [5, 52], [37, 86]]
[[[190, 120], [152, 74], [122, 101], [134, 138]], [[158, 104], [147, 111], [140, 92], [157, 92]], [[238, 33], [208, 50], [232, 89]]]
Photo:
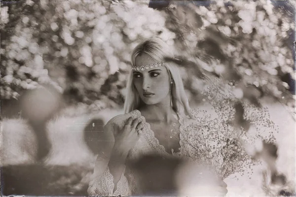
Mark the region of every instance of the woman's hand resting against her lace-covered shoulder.
[[136, 145], [141, 136], [142, 129], [142, 120], [129, 117], [123, 128], [114, 132], [114, 148], [116, 151], [127, 154]]

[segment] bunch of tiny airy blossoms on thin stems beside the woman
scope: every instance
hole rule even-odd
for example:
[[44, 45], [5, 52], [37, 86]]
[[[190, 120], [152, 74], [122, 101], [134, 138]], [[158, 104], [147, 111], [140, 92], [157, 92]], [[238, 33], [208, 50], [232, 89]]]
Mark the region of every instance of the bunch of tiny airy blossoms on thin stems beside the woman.
[[205, 87], [212, 109], [192, 109], [196, 121], [184, 128], [187, 156], [212, 166], [223, 178], [252, 171], [257, 161], [248, 148], [257, 140], [275, 143], [273, 133], [278, 131], [266, 108], [235, 98], [233, 89], [222, 80]]

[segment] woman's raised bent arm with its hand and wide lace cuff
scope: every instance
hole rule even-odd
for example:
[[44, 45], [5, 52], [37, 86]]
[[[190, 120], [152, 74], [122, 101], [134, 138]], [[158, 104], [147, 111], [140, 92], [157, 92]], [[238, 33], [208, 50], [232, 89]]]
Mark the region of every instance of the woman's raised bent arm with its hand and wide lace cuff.
[[[121, 117], [118, 117], [118, 119], [120, 118]], [[121, 195], [129, 195], [127, 194], [129, 191], [129, 185], [126, 178], [122, 176], [122, 174], [124, 173], [127, 154], [130, 149], [135, 146], [136, 142], [140, 138], [138, 130], [141, 130], [143, 128], [143, 124], [141, 123], [141, 120], [139, 120], [139, 118], [135, 117], [130, 117], [127, 121], [124, 122], [125, 124], [121, 128], [120, 126], [118, 127], [118, 125], [122, 124], [113, 123], [107, 124], [104, 127], [104, 131], [114, 134], [114, 145], [112, 147], [110, 158], [108, 159], [107, 163], [97, 161], [97, 164], [105, 164], [102, 165], [102, 167], [95, 167], [95, 169], [97, 170], [95, 170], [96, 172], [94, 172], [94, 174], [97, 174], [99, 176], [94, 176], [93, 180], [89, 184], [88, 194], [90, 196], [106, 196], [112, 195], [114, 193], [117, 194], [118, 192], [119, 194], [121, 192], [124, 193]], [[120, 185], [118, 185], [117, 188], [118, 182], [120, 182]], [[119, 186], [121, 187], [119, 188]], [[119, 189], [120, 191], [116, 192], [117, 189]]]

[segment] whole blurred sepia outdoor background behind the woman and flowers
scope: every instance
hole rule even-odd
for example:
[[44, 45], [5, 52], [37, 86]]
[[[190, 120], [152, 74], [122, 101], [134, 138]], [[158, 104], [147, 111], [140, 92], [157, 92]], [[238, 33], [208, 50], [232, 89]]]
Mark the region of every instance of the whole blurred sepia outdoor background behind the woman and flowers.
[[254, 147], [284, 181], [262, 191], [259, 169], [232, 174], [228, 195], [295, 194], [292, 2], [3, 0], [0, 33], [1, 194], [87, 195], [104, 147], [90, 131], [123, 113], [131, 51], [154, 35], [174, 46], [192, 107], [211, 111], [201, 92], [222, 78], [279, 127], [275, 154]]

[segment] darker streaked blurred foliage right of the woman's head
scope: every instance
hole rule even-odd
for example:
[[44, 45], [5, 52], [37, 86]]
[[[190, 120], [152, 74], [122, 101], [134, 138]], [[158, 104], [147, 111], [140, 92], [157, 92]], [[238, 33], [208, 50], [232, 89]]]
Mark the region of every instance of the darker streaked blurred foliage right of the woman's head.
[[[294, 106], [288, 91], [295, 88], [294, 58], [287, 44], [294, 40], [293, 13], [276, 9], [271, 1], [217, 1], [208, 7], [194, 3], [174, 1], [165, 10], [170, 15], [166, 26], [179, 38], [179, 54], [195, 63], [185, 69], [194, 66], [206, 75], [232, 81], [242, 89], [243, 98], [254, 102], [271, 96]], [[202, 86], [190, 80], [200, 75], [186, 74], [187, 89], [193, 95], [200, 93]]]

